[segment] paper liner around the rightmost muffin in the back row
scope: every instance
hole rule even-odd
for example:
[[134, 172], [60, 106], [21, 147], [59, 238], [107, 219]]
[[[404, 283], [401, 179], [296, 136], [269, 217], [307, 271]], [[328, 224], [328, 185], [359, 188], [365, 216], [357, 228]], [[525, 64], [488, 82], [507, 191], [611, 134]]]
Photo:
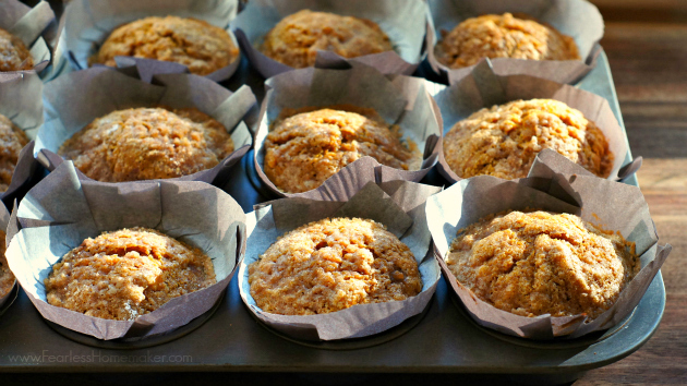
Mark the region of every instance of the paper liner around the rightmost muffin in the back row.
[[[426, 35], [427, 60], [439, 76], [462, 77], [472, 67], [449, 69], [439, 63], [434, 48], [442, 38], [441, 31], [450, 32], [460, 22], [484, 14], [525, 13], [539, 22], [554, 26], [575, 39], [582, 60], [526, 60], [492, 59], [498, 75], [531, 75], [558, 83], [575, 83], [595, 65], [601, 53], [599, 40], [603, 37], [604, 23], [595, 5], [586, 0], [429, 0], [433, 31]], [[516, 15], [517, 16], [517, 15]]]

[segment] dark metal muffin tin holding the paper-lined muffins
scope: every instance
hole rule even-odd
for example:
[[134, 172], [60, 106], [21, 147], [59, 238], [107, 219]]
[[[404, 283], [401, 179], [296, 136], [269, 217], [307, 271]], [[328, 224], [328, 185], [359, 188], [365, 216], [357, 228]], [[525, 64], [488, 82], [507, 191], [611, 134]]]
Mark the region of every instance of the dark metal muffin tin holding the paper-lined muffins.
[[[56, 68], [70, 71], [60, 62]], [[417, 75], [432, 79], [433, 74], [424, 67]], [[263, 82], [243, 59], [237, 75], [222, 85], [236, 91], [249, 84], [260, 100], [264, 96]], [[613, 79], [603, 52], [595, 69], [578, 86], [605, 97], [622, 123]], [[252, 155], [245, 155], [224, 183], [224, 190], [246, 213], [252, 210], [253, 204], [274, 198], [254, 177], [251, 160]], [[626, 162], [629, 160], [628, 154]], [[422, 182], [446, 184], [435, 170]], [[626, 182], [637, 185], [634, 176]], [[664, 306], [665, 290], [659, 274], [635, 312], [608, 331], [578, 339], [525, 340], [475, 325], [460, 302], [451, 300], [442, 278], [427, 309], [403, 325], [358, 342], [317, 345], [286, 339], [256, 322], [241, 301], [234, 277], [214, 314], [206, 321], [192, 322], [197, 329], [180, 334], [172, 341], [148, 341], [159, 345], [144, 348], [149, 345], [122, 342], [104, 347], [83, 339], [77, 333], [58, 334], [20, 291], [9, 310], [0, 310], [0, 313], [7, 311], [0, 317], [0, 372], [499, 373], [516, 374], [516, 377], [527, 374], [528, 377], [521, 381], [528, 382], [562, 383], [639, 349], [658, 328]], [[20, 359], [17, 355], [34, 358]]]

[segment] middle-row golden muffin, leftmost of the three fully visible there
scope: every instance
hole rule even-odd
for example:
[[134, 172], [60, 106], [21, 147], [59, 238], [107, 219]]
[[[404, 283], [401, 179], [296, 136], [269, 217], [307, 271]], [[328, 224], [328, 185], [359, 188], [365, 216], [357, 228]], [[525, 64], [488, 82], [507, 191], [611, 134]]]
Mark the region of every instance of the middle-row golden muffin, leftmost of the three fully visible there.
[[122, 182], [176, 178], [215, 167], [233, 152], [225, 126], [195, 108], [135, 108], [100, 117], [58, 153], [89, 178]]

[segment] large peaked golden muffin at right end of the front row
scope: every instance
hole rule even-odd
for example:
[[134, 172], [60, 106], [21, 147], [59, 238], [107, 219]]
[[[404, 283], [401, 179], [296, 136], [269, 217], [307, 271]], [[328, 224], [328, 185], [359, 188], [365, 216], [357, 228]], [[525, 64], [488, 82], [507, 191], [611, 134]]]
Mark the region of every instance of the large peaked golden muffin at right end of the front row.
[[478, 298], [521, 316], [608, 310], [639, 272], [623, 237], [575, 215], [510, 212], [458, 231], [446, 264]]

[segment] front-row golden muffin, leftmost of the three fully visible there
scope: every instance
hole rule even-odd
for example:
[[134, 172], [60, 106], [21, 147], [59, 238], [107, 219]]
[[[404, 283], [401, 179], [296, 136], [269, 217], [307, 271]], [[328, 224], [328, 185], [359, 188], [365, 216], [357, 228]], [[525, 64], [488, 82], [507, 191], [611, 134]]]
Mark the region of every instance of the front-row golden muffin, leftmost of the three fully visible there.
[[205, 253], [146, 228], [84, 240], [45, 279], [48, 303], [117, 321], [132, 321], [215, 282]]

